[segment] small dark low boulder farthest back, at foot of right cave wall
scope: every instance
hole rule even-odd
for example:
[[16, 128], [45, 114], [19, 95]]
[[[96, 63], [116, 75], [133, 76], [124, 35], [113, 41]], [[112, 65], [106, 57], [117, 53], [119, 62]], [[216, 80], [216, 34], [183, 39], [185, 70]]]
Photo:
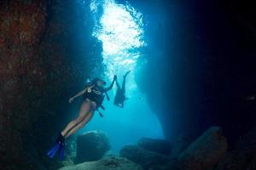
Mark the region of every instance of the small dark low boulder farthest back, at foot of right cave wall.
[[168, 155], [172, 152], [172, 144], [164, 139], [139, 139], [137, 144], [144, 150], [154, 151], [160, 154]]

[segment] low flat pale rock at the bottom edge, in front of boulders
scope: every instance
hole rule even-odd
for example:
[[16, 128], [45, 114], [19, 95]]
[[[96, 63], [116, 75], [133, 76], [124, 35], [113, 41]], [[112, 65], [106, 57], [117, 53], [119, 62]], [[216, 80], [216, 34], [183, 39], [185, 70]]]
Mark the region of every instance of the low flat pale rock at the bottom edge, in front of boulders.
[[143, 167], [123, 157], [107, 156], [99, 161], [84, 162], [59, 170], [143, 170]]

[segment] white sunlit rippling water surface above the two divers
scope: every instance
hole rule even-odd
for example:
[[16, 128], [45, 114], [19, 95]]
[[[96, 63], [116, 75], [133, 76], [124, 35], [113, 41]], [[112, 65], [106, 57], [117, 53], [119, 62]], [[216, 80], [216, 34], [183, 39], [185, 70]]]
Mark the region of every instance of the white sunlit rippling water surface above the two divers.
[[[91, 4], [91, 9], [96, 10], [96, 5]], [[109, 78], [134, 70], [140, 57], [138, 49], [145, 45], [142, 17], [129, 4], [104, 1], [100, 26], [96, 26], [93, 35], [102, 41], [103, 63]]]

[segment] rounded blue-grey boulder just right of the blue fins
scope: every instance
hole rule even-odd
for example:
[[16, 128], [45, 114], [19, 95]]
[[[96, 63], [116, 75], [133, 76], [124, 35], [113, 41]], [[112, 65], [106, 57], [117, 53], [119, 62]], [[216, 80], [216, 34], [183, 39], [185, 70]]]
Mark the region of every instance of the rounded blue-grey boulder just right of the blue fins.
[[110, 150], [106, 133], [91, 131], [80, 134], [77, 139], [76, 163], [84, 161], [97, 161]]

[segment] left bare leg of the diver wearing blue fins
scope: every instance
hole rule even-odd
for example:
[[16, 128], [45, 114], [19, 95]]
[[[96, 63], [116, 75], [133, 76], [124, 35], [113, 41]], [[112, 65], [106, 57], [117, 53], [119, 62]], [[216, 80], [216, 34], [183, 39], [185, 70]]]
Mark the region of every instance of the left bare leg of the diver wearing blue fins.
[[80, 122], [84, 120], [84, 118], [88, 115], [90, 112], [90, 101], [83, 101], [80, 111], [79, 111], [79, 116], [74, 119], [72, 122], [69, 122], [67, 124], [67, 127], [64, 128], [64, 130], [61, 132], [62, 136], [64, 136], [66, 139], [67, 132], [70, 131], [73, 127], [76, 127], [79, 125]]

